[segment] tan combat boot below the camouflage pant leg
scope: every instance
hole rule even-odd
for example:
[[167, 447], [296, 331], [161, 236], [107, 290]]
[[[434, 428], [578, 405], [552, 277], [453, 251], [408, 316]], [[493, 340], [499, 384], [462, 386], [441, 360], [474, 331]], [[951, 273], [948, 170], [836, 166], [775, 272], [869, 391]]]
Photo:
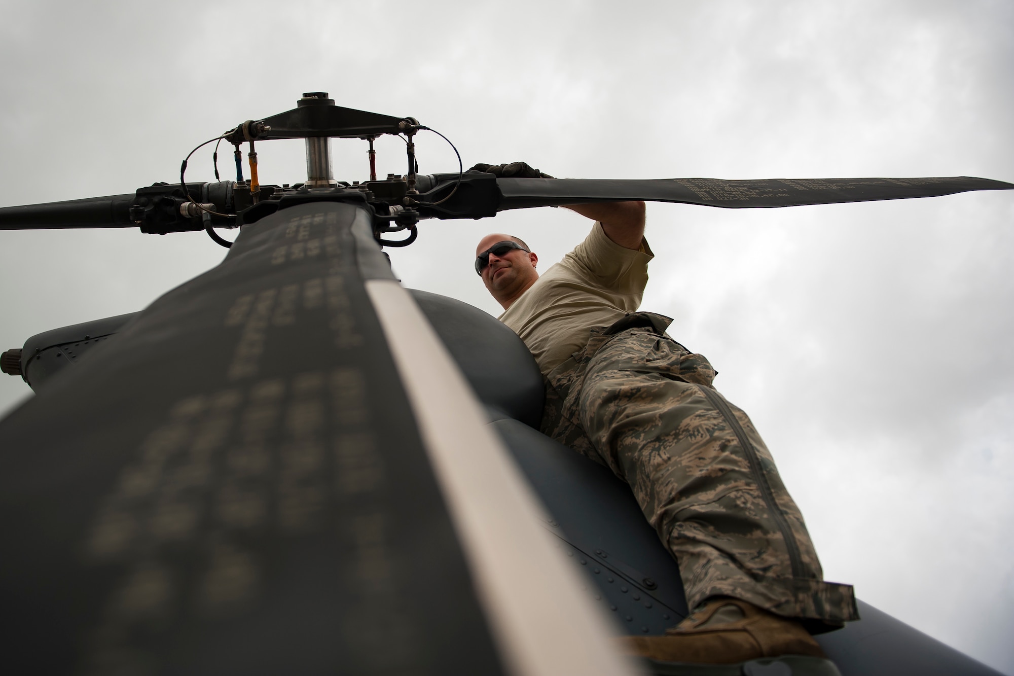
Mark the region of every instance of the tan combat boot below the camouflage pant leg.
[[738, 599], [710, 601], [664, 636], [621, 641], [625, 653], [657, 662], [736, 664], [785, 655], [826, 659], [799, 622]]

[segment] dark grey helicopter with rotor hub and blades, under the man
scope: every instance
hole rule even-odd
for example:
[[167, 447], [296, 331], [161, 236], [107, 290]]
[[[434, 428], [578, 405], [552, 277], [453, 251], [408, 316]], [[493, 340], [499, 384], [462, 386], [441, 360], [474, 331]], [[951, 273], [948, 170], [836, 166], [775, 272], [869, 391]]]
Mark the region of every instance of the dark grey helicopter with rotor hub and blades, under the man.
[[[640, 665], [609, 635], [662, 633], [684, 617], [678, 566], [622, 482], [537, 431], [542, 382], [517, 336], [405, 289], [382, 248], [410, 246], [426, 219], [539, 206], [784, 207], [1014, 188], [504, 178], [465, 172], [459, 156], [457, 172], [420, 175], [425, 131], [307, 92], [207, 142], [234, 146], [235, 181], [187, 183], [185, 160], [178, 183], [0, 209], [2, 229], [204, 230], [229, 248], [140, 313], [45, 332], [0, 358], [38, 393], [0, 422], [10, 663], [631, 673]], [[372, 150], [380, 135], [406, 141], [404, 175], [378, 180], [371, 162], [368, 181], [334, 179], [332, 138]], [[261, 185], [256, 144], [293, 138], [305, 139], [307, 179]], [[216, 228], [240, 232], [229, 242]], [[817, 636], [843, 674], [994, 673], [860, 610]], [[775, 660], [701, 673], [812, 672]]]

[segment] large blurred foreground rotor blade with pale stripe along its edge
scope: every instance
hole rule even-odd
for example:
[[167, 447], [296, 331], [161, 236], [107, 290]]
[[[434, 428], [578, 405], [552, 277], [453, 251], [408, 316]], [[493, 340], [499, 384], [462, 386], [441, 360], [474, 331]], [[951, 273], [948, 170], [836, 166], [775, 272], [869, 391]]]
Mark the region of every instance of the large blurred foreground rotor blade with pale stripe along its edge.
[[5, 659], [627, 673], [487, 421], [362, 197], [271, 214], [0, 420]]

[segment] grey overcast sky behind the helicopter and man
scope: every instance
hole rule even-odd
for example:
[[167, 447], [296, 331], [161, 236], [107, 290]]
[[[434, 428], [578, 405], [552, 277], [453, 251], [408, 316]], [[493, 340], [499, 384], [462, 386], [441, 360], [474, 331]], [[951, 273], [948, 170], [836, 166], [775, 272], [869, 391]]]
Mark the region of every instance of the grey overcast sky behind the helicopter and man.
[[[619, 7], [0, 0], [0, 205], [176, 181], [193, 146], [309, 90], [414, 116], [466, 165], [1014, 182], [1014, 3]], [[262, 182], [305, 178], [299, 142], [258, 149]], [[397, 141], [378, 150], [403, 173]], [[335, 155], [337, 178], [366, 178], [362, 142]], [[419, 159], [456, 168], [436, 136]], [[210, 152], [191, 167], [211, 180]], [[1014, 674], [1014, 193], [648, 218], [643, 308], [750, 413], [825, 577]], [[546, 267], [588, 226], [563, 209], [426, 222], [391, 257], [407, 285], [496, 313], [472, 267], [483, 234]], [[0, 251], [8, 348], [141, 310], [225, 250], [126, 229], [0, 232]], [[0, 412], [30, 395], [2, 379]]]

